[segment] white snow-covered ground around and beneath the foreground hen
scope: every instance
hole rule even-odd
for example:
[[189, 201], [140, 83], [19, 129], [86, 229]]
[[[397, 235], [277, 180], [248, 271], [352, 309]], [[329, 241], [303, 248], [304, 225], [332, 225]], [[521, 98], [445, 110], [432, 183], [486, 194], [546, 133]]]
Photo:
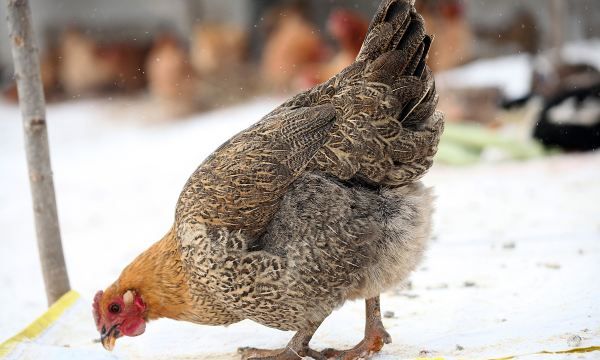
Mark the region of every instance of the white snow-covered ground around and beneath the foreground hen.
[[[200, 161], [278, 102], [154, 125], [136, 120], [135, 102], [50, 106], [72, 287], [91, 299], [112, 282], [169, 228], [179, 191]], [[0, 341], [46, 308], [22, 142], [18, 109], [0, 104]], [[567, 349], [572, 335], [581, 347], [600, 345], [600, 154], [434, 166], [425, 182], [438, 195], [435, 239], [412, 287], [383, 297], [383, 311], [394, 313], [384, 320], [394, 343], [380, 359], [421, 351], [470, 359], [531, 354]], [[280, 347], [291, 335], [250, 322], [215, 328], [160, 320], [143, 336], [118, 341], [109, 357], [91, 342], [88, 306], [77, 308], [76, 325], [63, 324], [73, 338], [55, 340], [73, 358], [230, 359], [238, 346]], [[351, 346], [362, 326], [363, 304], [346, 304], [313, 345]]]

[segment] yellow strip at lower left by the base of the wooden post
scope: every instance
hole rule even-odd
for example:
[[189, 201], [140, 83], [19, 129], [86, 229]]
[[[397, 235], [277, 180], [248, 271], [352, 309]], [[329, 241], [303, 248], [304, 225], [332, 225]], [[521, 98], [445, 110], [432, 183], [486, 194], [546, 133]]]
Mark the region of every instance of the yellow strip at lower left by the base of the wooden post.
[[74, 290], [64, 294], [48, 308], [48, 311], [23, 329], [23, 331], [0, 344], [0, 357], [7, 356], [20, 343], [40, 336], [44, 330], [48, 329], [50, 325], [58, 320], [65, 310], [70, 308], [79, 298], [80, 295]]

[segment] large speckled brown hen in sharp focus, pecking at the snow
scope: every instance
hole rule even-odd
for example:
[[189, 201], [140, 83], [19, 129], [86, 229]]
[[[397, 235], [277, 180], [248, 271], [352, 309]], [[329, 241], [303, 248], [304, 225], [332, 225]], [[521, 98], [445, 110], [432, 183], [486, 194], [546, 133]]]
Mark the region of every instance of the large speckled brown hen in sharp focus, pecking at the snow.
[[[430, 43], [408, 0], [385, 0], [352, 65], [215, 150], [167, 234], [96, 294], [102, 344], [163, 317], [296, 332], [284, 349], [241, 349], [243, 359], [356, 359], [389, 343], [379, 294], [406, 279], [430, 234], [432, 198], [418, 180], [443, 129]], [[364, 340], [311, 349], [351, 299], [366, 299]]]

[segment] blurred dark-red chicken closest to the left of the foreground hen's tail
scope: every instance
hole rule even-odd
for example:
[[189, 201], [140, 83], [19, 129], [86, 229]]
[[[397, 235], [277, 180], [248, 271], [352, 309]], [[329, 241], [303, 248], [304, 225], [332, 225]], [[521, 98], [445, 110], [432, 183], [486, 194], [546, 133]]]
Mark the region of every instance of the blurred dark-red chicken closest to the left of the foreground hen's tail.
[[327, 20], [327, 30], [339, 46], [328, 61], [309, 66], [297, 79], [297, 87], [305, 89], [328, 80], [354, 62], [367, 34], [369, 23], [358, 13], [337, 9]]

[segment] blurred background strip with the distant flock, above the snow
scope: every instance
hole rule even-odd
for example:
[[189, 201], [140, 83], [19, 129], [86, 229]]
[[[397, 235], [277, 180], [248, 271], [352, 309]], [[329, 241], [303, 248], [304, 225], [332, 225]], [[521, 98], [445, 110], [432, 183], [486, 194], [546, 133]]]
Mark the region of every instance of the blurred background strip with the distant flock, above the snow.
[[[129, 96], [149, 102], [137, 108], [148, 121], [292, 94], [328, 79], [352, 62], [377, 4], [32, 1], [47, 99]], [[562, 99], [553, 104], [562, 110], [543, 110], [597, 88], [598, 2], [420, 0], [417, 7], [435, 35], [429, 65], [439, 75], [440, 107], [449, 121], [505, 125], [524, 115], [506, 110], [515, 113], [538, 97], [540, 114], [524, 115], [527, 126], [544, 118], [536, 136], [567, 145], [553, 133], [554, 118], [577, 113], [569, 105], [585, 101]], [[0, 26], [0, 85], [5, 101], [15, 102], [6, 31]]]

